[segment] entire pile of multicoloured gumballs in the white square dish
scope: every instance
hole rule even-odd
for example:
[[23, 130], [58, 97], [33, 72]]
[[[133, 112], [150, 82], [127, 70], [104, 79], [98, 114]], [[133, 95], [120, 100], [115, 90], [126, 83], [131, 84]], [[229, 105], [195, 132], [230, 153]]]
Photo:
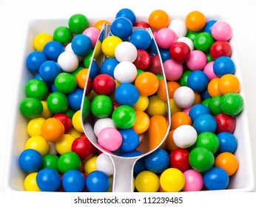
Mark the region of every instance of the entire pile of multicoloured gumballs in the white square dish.
[[[104, 24], [112, 25], [112, 35], [96, 44]], [[161, 58], [147, 52], [148, 33], [133, 39], [127, 30], [132, 27], [152, 29]], [[111, 152], [135, 150], [150, 118], [170, 111], [170, 131], [162, 146], [135, 163], [135, 191], [228, 188], [238, 170], [235, 116], [243, 110], [231, 38], [226, 21], [208, 20], [199, 11], [172, 19], [164, 10], [154, 10], [142, 21], [128, 8], [112, 22], [101, 19], [93, 26], [86, 16], [75, 14], [68, 27], [36, 35], [35, 50], [26, 59], [34, 78], [19, 104], [29, 136], [18, 157], [24, 189], [111, 191], [112, 161], [92, 145], [81, 125], [84, 89], [93, 102], [87, 113], [98, 118], [95, 135]], [[92, 55], [101, 52], [107, 58], [98, 65]], [[166, 83], [158, 73], [159, 60]], [[128, 118], [120, 118], [127, 111]], [[110, 135], [120, 129], [112, 136], [117, 140], [104, 140], [105, 126]]]

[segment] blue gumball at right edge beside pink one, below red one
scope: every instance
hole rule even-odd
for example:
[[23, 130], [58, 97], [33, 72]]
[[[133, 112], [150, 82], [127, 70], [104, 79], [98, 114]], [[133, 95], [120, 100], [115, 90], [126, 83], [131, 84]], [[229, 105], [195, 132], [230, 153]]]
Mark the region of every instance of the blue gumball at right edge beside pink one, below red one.
[[235, 73], [235, 64], [232, 61], [232, 58], [227, 56], [220, 56], [213, 63], [213, 72], [218, 77], [221, 77], [226, 74], [234, 74]]

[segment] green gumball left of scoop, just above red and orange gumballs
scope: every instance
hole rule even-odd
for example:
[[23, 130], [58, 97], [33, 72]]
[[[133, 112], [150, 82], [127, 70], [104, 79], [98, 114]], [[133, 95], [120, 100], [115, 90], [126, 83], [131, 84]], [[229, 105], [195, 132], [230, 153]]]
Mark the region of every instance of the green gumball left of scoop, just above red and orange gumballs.
[[68, 108], [67, 96], [62, 92], [52, 92], [47, 98], [47, 106], [53, 114], [65, 112]]

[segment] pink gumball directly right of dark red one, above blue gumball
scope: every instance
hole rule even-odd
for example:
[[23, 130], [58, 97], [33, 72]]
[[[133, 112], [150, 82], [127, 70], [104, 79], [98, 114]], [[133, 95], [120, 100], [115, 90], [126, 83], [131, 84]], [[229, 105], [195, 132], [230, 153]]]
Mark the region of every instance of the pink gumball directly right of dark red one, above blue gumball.
[[206, 66], [207, 58], [206, 54], [201, 50], [192, 50], [189, 54], [189, 58], [186, 61], [186, 66], [191, 70], [203, 69]]

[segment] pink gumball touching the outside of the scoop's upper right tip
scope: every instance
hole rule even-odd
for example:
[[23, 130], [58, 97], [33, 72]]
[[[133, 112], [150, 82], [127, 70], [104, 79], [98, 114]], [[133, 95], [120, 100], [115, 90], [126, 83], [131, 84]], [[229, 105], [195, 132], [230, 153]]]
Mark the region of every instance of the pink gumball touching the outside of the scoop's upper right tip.
[[158, 44], [158, 47], [163, 49], [169, 49], [177, 41], [175, 32], [168, 27], [164, 27], [155, 35], [155, 41]]

